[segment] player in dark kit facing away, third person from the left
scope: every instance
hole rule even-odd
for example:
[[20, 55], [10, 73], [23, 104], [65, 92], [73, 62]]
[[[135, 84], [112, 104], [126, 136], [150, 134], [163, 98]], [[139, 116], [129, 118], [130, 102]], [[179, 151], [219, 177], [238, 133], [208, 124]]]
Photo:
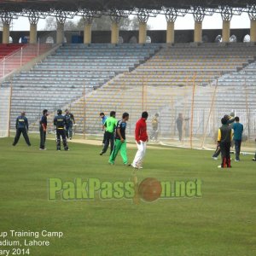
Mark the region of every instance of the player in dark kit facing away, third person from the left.
[[54, 119], [54, 125], [56, 126], [56, 143], [57, 143], [57, 150], [61, 150], [61, 137], [63, 142], [63, 147], [67, 151], [67, 137], [65, 131], [65, 125], [67, 125], [67, 120], [64, 115], [62, 115], [62, 110], [57, 110], [57, 115]]

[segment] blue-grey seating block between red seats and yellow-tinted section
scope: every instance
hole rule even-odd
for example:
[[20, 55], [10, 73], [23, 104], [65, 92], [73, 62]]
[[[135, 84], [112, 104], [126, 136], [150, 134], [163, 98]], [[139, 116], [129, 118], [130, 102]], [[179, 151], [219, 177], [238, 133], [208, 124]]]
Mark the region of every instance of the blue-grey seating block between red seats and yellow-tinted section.
[[[3, 86], [13, 84], [11, 119], [20, 109], [35, 121], [42, 109], [55, 111], [90, 93], [115, 75], [129, 72], [155, 51], [157, 44], [67, 44], [58, 49], [30, 72], [16, 74]], [[108, 96], [109, 97], [109, 96]]]

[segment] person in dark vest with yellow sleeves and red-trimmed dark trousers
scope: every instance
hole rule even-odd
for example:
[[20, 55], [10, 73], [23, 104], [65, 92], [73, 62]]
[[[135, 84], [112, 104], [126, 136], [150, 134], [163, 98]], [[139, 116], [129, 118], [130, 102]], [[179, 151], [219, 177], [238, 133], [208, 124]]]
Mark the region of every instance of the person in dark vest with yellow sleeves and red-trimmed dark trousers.
[[218, 147], [221, 151], [222, 163], [218, 168], [230, 168], [230, 147], [233, 134], [227, 119], [221, 119], [221, 123], [222, 126], [218, 129]]

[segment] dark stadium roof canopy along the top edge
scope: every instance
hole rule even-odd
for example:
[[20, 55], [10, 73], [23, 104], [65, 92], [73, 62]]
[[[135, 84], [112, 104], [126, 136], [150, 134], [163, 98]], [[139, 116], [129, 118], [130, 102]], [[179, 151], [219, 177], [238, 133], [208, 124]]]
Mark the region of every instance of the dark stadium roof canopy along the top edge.
[[255, 0], [2, 0], [0, 11], [22, 12], [24, 9], [36, 9], [50, 12], [51, 9], [63, 11], [78, 11], [90, 9], [106, 11], [110, 9], [188, 9], [191, 6], [218, 9], [218, 6], [228, 5], [233, 8], [247, 8], [254, 5]]

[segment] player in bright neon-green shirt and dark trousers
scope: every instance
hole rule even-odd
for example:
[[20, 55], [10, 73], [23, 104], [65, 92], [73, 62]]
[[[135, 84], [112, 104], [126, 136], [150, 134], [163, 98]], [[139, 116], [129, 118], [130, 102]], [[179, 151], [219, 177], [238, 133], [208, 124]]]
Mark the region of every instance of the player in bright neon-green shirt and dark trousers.
[[106, 122], [104, 124], [106, 137], [105, 137], [105, 144], [104, 144], [104, 147], [102, 148], [102, 152], [100, 155], [105, 154], [107, 152], [109, 143], [110, 143], [110, 154], [112, 154], [113, 138], [114, 138], [116, 123], [117, 123], [117, 120], [115, 119], [115, 111], [111, 111], [110, 116], [108, 117], [108, 119], [106, 119]]

